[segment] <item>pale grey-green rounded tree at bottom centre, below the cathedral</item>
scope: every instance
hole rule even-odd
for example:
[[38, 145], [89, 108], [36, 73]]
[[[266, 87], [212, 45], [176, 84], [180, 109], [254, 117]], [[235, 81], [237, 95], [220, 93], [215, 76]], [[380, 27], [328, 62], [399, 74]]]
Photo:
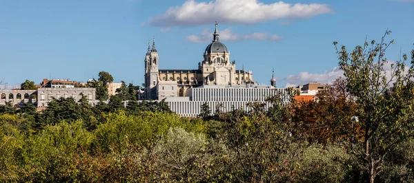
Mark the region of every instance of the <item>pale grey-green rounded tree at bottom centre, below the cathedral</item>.
[[156, 182], [220, 182], [222, 169], [217, 154], [226, 154], [222, 144], [209, 142], [203, 134], [196, 135], [182, 128], [170, 128], [166, 138], [155, 143], [148, 153], [154, 164]]

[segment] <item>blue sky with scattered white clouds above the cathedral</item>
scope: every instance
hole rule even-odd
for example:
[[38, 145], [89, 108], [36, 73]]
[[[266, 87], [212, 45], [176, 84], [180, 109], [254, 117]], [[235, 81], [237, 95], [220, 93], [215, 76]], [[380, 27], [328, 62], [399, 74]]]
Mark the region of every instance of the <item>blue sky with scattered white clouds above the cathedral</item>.
[[277, 87], [341, 76], [333, 41], [351, 50], [388, 29], [389, 60], [414, 49], [414, 0], [0, 0], [0, 80], [86, 82], [106, 71], [141, 85], [148, 41], [159, 69], [196, 69], [215, 21], [237, 69], [265, 85], [275, 69]]

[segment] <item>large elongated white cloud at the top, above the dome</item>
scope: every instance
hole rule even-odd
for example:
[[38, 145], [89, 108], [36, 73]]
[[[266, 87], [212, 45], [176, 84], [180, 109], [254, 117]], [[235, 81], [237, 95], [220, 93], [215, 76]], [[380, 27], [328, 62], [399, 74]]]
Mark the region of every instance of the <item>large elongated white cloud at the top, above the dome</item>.
[[220, 23], [250, 24], [277, 19], [299, 19], [333, 12], [326, 4], [265, 4], [257, 0], [188, 0], [182, 6], [170, 7], [164, 14], [150, 19], [153, 26], [195, 26]]

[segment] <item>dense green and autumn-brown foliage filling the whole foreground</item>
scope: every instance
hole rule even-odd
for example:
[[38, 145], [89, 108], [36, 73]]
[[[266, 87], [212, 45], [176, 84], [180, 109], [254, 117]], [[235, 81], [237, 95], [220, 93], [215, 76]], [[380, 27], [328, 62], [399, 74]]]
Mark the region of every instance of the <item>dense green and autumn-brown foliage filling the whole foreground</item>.
[[315, 101], [288, 90], [270, 106], [211, 115], [205, 103], [183, 118], [123, 83], [108, 104], [1, 105], [0, 182], [413, 182], [413, 66], [397, 62], [388, 78], [386, 59], [373, 60], [382, 45], [342, 47], [344, 78]]

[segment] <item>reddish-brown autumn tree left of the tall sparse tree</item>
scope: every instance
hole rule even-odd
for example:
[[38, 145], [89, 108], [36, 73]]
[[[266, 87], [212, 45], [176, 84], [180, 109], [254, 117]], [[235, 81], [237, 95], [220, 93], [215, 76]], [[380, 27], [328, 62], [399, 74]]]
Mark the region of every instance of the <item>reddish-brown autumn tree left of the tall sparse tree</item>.
[[[362, 138], [362, 129], [355, 124], [358, 105], [346, 92], [346, 81], [337, 78], [333, 84], [319, 91], [313, 101], [295, 101], [295, 128], [306, 133], [309, 142], [353, 142]], [[352, 136], [349, 136], [351, 131]]]

